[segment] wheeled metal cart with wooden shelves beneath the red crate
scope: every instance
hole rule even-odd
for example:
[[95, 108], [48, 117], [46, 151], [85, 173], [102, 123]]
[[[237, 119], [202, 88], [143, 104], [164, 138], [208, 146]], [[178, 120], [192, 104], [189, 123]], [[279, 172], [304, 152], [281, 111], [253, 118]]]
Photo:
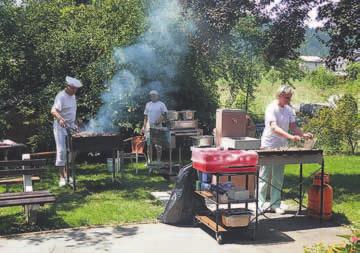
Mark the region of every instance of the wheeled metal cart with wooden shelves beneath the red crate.
[[[257, 225], [258, 225], [258, 185], [259, 185], [259, 166], [256, 166], [256, 171], [253, 172], [247, 172], [247, 171], [241, 171], [241, 169], [244, 168], [249, 168], [249, 166], [237, 166], [236, 169], [238, 169], [239, 171], [237, 172], [231, 172], [231, 173], [213, 173], [213, 175], [216, 176], [216, 189], [219, 189], [219, 181], [220, 181], [220, 177], [221, 176], [227, 176], [228, 180], [231, 180], [232, 176], [242, 176], [245, 175], [246, 176], [246, 190], [249, 190], [249, 175], [254, 175], [254, 185], [256, 187], [255, 189], [255, 193], [252, 198], [251, 196], [249, 196], [249, 199], [246, 200], [238, 200], [238, 201], [233, 201], [233, 200], [229, 200], [228, 203], [224, 204], [226, 205], [226, 208], [220, 208], [220, 205], [222, 205], [222, 203], [219, 203], [219, 192], [216, 191], [215, 194], [213, 194], [212, 192], [209, 191], [195, 191], [197, 194], [199, 194], [200, 196], [204, 197], [205, 199], [207, 199], [208, 201], [210, 201], [211, 203], [216, 205], [216, 209], [214, 211], [210, 211], [206, 212], [206, 213], [198, 213], [195, 215], [195, 220], [197, 222], [200, 222], [204, 225], [206, 225], [208, 228], [210, 228], [212, 231], [215, 232], [215, 238], [216, 241], [219, 244], [223, 243], [223, 239], [224, 239], [224, 234], [226, 232], [230, 232], [230, 231], [236, 231], [239, 229], [250, 229], [252, 227], [252, 239], [255, 240], [256, 238], [256, 229], [257, 229]], [[234, 168], [235, 169], [235, 168]], [[230, 210], [230, 209], [235, 209], [232, 207], [232, 204], [245, 204], [245, 208], [248, 209], [248, 204], [249, 203], [255, 203], [256, 207], [255, 207], [255, 212], [254, 212], [254, 216], [250, 219], [250, 222], [248, 224], [248, 226], [246, 227], [226, 227], [225, 225], [222, 224], [221, 221], [221, 215], [224, 213], [224, 211], [226, 210]]]

